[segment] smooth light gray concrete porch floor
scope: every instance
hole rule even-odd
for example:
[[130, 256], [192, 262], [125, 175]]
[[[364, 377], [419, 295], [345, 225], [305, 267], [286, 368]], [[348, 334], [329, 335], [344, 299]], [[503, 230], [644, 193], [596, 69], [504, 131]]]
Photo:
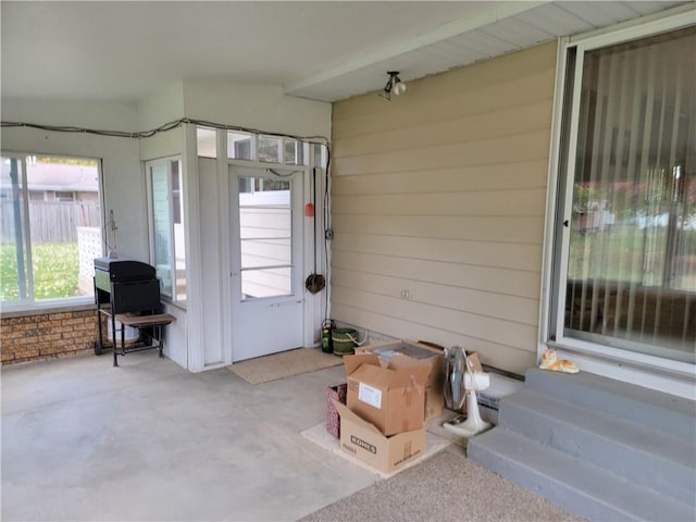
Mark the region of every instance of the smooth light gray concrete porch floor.
[[2, 368], [3, 521], [297, 520], [378, 476], [300, 434], [343, 365], [250, 385], [154, 350]]

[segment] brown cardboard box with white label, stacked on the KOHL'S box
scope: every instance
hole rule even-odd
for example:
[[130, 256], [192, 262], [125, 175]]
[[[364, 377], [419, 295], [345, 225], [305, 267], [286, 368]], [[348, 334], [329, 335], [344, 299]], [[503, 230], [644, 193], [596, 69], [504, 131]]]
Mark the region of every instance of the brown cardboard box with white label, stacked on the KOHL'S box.
[[384, 435], [423, 426], [427, 361], [394, 357], [383, 366], [374, 353], [344, 356], [348, 376], [348, 409]]

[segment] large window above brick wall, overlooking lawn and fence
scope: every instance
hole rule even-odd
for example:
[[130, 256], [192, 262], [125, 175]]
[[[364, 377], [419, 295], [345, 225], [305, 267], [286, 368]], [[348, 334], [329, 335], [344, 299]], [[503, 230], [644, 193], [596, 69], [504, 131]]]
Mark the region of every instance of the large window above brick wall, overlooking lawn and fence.
[[91, 159], [2, 157], [3, 306], [94, 295], [94, 260], [103, 254], [99, 172]]

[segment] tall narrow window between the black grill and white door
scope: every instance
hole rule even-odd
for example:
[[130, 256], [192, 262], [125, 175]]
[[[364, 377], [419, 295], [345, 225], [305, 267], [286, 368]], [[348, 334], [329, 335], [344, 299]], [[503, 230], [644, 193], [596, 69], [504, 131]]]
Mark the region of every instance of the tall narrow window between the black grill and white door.
[[182, 162], [178, 158], [147, 164], [150, 192], [151, 258], [161, 293], [186, 301], [186, 251]]

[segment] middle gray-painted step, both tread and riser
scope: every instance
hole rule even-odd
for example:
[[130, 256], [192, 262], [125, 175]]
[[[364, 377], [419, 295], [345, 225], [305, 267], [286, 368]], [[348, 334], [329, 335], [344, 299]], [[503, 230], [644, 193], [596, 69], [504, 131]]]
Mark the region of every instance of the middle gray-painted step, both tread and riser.
[[696, 442], [534, 389], [507, 397], [499, 423], [543, 445], [696, 507]]

